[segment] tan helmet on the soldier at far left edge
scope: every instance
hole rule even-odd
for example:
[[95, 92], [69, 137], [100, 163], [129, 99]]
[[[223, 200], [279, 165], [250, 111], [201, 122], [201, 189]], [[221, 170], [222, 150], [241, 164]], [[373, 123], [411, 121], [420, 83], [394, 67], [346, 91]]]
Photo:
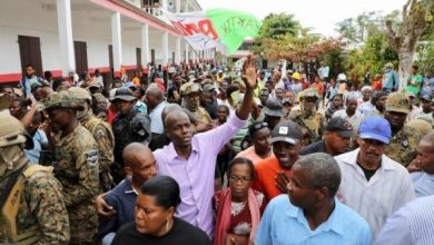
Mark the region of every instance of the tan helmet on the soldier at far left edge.
[[0, 115], [0, 147], [26, 143], [24, 126], [10, 115]]

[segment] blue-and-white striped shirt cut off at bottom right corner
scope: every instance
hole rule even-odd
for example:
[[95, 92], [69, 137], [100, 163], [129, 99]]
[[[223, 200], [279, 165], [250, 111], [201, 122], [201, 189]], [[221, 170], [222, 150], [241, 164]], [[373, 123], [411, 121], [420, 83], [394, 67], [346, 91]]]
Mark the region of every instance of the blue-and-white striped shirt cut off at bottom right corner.
[[434, 244], [434, 195], [417, 198], [393, 214], [374, 245]]

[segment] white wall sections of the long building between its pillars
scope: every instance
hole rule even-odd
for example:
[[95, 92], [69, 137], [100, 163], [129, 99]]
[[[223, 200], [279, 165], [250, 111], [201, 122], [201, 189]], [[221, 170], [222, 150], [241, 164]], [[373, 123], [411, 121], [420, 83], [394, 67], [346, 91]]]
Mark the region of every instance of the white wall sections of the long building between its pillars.
[[[43, 2], [50, 4], [47, 6]], [[0, 0], [0, 75], [21, 74], [19, 35], [40, 38], [43, 70], [61, 70], [57, 9], [52, 3], [56, 1]], [[75, 10], [72, 6], [73, 40], [87, 42], [89, 68], [109, 67], [111, 12], [92, 6], [90, 2], [89, 7], [91, 7], [89, 10], [82, 8]], [[141, 48], [140, 23], [122, 16], [121, 24], [125, 26], [122, 29], [122, 65], [135, 66], [136, 48]], [[137, 28], [131, 28], [135, 24]], [[157, 65], [162, 61], [161, 33], [160, 30], [149, 27], [149, 49], [155, 49]], [[184, 57], [184, 49], [183, 42], [181, 57]], [[176, 51], [176, 37], [169, 35], [169, 60], [174, 51]]]

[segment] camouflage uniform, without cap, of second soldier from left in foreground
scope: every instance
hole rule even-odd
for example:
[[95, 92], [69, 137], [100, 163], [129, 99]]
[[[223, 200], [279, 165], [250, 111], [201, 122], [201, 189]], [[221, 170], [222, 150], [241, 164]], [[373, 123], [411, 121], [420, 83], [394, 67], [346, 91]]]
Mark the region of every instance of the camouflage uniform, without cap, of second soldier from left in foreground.
[[71, 243], [93, 244], [98, 217], [95, 198], [99, 192], [98, 147], [82, 126], [69, 135], [55, 136], [55, 173], [63, 186], [71, 226]]

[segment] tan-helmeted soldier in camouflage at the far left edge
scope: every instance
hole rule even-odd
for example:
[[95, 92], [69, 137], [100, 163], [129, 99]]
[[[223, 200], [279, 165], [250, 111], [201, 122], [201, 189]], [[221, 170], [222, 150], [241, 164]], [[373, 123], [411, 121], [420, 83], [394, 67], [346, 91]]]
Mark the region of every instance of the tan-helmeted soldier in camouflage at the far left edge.
[[26, 157], [23, 133], [18, 119], [0, 115], [0, 244], [68, 244], [61, 185], [52, 167]]

